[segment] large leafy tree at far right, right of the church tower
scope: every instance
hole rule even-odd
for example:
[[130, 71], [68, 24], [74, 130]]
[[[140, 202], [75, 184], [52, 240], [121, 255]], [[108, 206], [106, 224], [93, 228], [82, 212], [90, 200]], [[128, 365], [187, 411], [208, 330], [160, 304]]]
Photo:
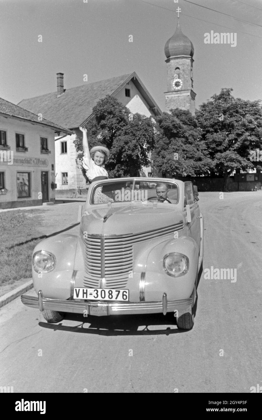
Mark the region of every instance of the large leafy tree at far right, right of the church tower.
[[259, 162], [252, 163], [249, 156], [261, 147], [262, 109], [259, 101], [235, 99], [232, 91], [221, 89], [219, 95], [213, 95], [196, 111], [213, 171], [224, 178], [224, 191], [235, 169], [260, 168]]

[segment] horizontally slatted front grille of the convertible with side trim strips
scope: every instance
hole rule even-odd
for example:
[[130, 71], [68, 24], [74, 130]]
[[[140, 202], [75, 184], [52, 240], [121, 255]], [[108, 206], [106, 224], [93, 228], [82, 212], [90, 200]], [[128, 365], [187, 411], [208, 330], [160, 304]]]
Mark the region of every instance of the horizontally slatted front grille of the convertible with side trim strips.
[[126, 235], [85, 235], [85, 287], [126, 287], [133, 270], [133, 245], [183, 230], [183, 221], [165, 228]]

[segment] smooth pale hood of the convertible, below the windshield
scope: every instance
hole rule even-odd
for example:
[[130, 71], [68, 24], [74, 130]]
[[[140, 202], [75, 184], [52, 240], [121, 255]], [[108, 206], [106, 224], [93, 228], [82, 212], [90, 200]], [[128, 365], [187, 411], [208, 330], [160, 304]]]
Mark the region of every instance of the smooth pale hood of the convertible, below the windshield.
[[183, 220], [173, 205], [106, 206], [88, 209], [81, 218], [81, 231], [88, 234], [122, 235], [150, 231], [174, 225]]

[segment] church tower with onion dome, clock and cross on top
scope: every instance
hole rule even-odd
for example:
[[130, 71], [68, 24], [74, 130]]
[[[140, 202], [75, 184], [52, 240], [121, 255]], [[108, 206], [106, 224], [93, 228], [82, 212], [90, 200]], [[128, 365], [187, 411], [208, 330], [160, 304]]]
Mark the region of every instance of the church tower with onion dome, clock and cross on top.
[[178, 21], [176, 32], [165, 44], [165, 56], [168, 71], [168, 91], [165, 92], [165, 110], [173, 108], [189, 110], [195, 113], [193, 91], [193, 55], [194, 47], [181, 31]]

